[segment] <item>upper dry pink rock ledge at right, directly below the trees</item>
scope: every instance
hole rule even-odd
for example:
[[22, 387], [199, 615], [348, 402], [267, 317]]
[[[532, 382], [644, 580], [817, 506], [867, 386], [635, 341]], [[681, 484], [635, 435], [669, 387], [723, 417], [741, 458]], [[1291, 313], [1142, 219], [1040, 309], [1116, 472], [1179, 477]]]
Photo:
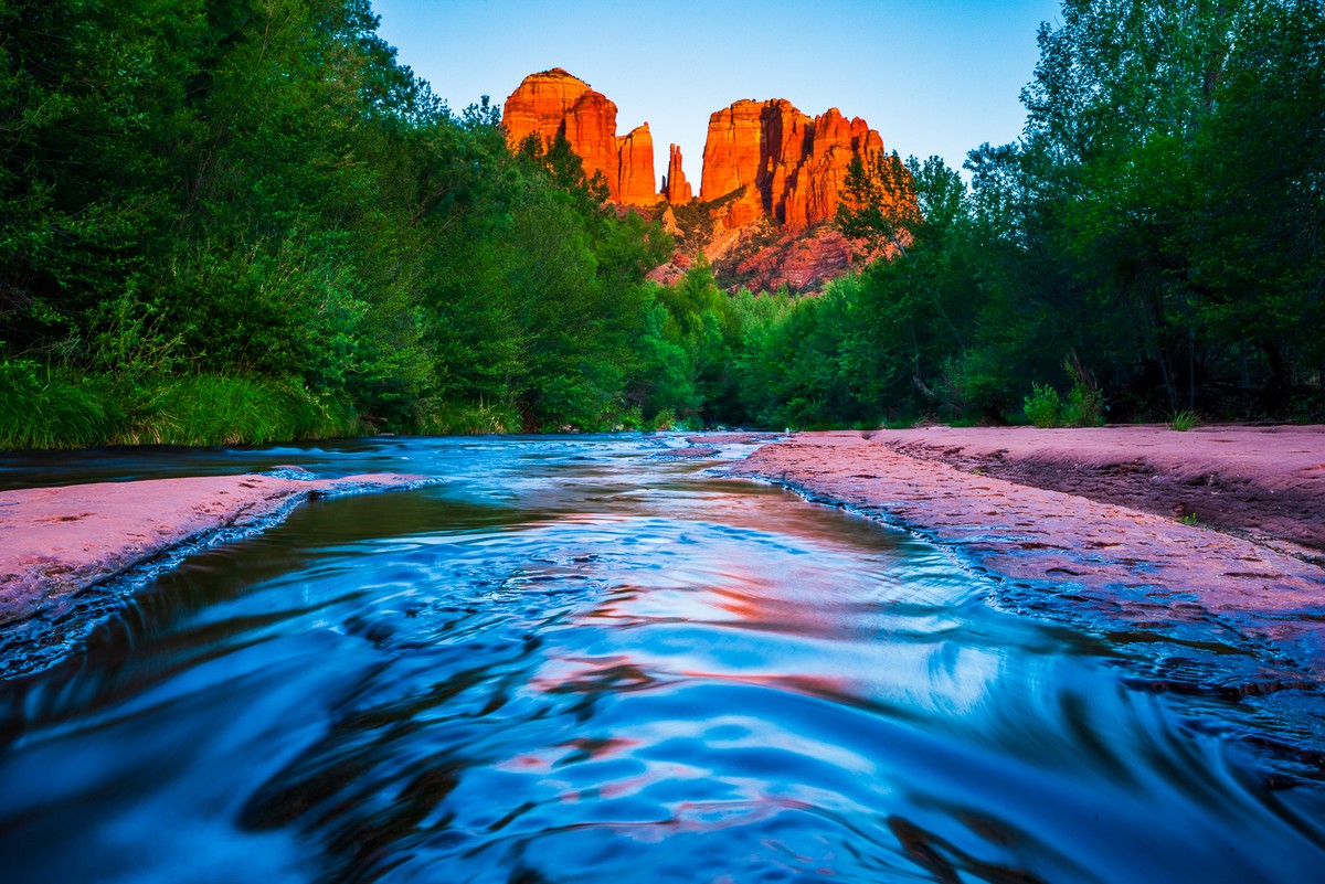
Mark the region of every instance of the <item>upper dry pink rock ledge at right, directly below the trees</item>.
[[[1325, 427], [920, 427], [874, 442], [1052, 491], [1325, 552]], [[1289, 547], [1292, 545], [1292, 547]], [[1293, 549], [1300, 547], [1304, 549]]]

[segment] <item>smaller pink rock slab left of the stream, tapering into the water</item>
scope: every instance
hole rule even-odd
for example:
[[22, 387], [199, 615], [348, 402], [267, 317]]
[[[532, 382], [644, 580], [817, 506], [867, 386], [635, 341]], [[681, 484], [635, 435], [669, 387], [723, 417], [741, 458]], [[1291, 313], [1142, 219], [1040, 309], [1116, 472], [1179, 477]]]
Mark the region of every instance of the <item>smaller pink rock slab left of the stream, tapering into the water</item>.
[[379, 474], [233, 475], [0, 492], [0, 623], [30, 617], [180, 544], [278, 517], [311, 496], [421, 482]]

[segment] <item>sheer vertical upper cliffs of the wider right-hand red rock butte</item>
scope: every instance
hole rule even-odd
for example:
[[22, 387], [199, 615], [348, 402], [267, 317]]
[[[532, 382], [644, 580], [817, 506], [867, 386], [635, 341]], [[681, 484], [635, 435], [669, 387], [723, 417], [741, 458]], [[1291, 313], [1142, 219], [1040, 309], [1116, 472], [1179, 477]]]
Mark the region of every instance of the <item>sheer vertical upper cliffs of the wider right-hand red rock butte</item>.
[[[753, 187], [763, 212], [791, 229], [827, 221], [837, 210], [853, 156], [884, 150], [865, 120], [835, 107], [811, 119], [783, 99], [739, 101], [709, 118], [700, 199]], [[731, 210], [725, 209], [729, 226]]]

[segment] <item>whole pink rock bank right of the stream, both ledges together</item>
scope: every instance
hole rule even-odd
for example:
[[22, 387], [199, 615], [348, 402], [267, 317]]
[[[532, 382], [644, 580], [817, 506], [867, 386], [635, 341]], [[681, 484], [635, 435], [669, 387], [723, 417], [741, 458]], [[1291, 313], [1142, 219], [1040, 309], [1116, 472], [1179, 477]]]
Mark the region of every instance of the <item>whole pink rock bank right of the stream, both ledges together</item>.
[[[1194, 678], [1246, 696], [1325, 678], [1325, 570], [1273, 548], [1320, 543], [1322, 466], [1322, 427], [931, 427], [802, 433], [731, 472], [946, 545], [1014, 607], [1157, 646], [1175, 666], [1204, 654], [1215, 671]], [[1179, 503], [1265, 541], [1183, 524]]]

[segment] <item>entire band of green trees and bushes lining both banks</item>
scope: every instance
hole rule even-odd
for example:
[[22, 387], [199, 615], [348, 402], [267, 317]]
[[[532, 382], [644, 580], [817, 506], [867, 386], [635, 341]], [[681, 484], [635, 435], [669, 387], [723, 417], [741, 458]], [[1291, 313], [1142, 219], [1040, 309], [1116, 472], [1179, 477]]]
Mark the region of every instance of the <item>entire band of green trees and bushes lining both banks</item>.
[[368, 0], [0, 0], [0, 447], [1320, 418], [1325, 8], [1064, 0], [1012, 144], [856, 164], [881, 257], [719, 291]]

